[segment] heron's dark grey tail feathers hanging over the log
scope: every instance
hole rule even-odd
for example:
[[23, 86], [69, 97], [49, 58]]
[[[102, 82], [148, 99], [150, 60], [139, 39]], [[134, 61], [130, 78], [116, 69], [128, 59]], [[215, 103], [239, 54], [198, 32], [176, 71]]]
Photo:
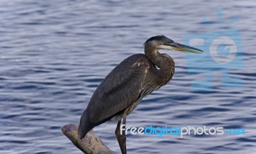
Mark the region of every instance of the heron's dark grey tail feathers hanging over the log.
[[89, 116], [86, 110], [80, 118], [80, 124], [78, 127], [78, 137], [83, 139], [83, 137], [92, 129], [92, 123], [90, 123]]

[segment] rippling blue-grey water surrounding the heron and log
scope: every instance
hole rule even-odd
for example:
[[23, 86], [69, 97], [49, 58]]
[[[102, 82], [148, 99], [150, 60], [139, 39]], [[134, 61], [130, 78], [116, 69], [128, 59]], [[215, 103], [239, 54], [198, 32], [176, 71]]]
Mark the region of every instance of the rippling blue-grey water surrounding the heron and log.
[[[213, 67], [219, 73], [212, 91], [193, 92], [195, 76], [187, 73], [186, 55], [168, 52], [175, 60], [173, 80], [144, 99], [127, 126], [206, 125], [243, 128], [246, 134], [183, 139], [129, 134], [127, 151], [256, 153], [255, 9], [253, 1], [2, 0], [0, 153], [81, 153], [61, 127], [79, 122], [104, 76], [129, 55], [143, 53], [151, 36], [164, 34], [182, 43], [186, 35], [214, 31], [202, 18], [218, 25], [217, 10], [226, 24], [239, 18], [231, 27], [241, 31], [244, 66], [229, 73], [243, 80], [243, 88], [222, 88], [221, 70]], [[115, 127], [104, 123], [95, 133], [120, 153]]]

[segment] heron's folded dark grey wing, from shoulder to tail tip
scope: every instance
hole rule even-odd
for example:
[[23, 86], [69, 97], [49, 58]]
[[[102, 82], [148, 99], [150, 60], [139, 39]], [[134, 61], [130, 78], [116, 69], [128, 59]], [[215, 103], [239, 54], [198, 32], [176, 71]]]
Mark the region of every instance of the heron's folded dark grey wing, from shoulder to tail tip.
[[106, 122], [140, 97], [143, 80], [150, 61], [135, 54], [122, 61], [95, 90], [81, 116], [79, 136], [83, 138], [93, 127]]

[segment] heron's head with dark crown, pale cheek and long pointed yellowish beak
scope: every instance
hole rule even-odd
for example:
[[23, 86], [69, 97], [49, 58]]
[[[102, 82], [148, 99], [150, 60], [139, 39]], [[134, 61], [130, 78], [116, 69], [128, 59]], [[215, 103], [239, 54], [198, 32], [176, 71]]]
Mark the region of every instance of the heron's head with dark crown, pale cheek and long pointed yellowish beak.
[[182, 45], [180, 43], [176, 43], [172, 39], [166, 38], [163, 35], [154, 36], [148, 39], [144, 45], [150, 45], [153, 48], [157, 48], [157, 50], [165, 49], [165, 50], [178, 50], [182, 52], [203, 53], [202, 50], [193, 48], [191, 46]]

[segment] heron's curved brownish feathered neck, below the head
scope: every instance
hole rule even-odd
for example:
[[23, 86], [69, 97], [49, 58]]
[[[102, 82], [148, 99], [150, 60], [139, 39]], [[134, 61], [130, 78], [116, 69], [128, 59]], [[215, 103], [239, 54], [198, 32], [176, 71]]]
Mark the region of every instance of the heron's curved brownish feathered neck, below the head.
[[159, 76], [161, 76], [161, 78], [172, 79], [172, 76], [174, 73], [174, 65], [175, 65], [172, 57], [164, 53], [163, 54], [159, 53], [157, 51], [157, 48], [153, 48], [152, 46], [147, 44], [145, 45], [145, 55], [155, 66], [160, 68]]

